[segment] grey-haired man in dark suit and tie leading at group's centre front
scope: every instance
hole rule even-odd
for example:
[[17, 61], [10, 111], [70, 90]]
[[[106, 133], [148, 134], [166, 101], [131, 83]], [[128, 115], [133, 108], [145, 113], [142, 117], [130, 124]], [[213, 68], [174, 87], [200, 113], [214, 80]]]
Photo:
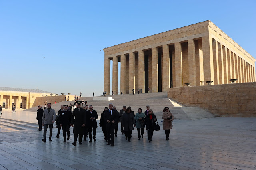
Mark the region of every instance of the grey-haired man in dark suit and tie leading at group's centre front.
[[118, 112], [113, 109], [113, 104], [108, 104], [108, 110], [105, 111], [104, 120], [106, 122], [106, 129], [108, 135], [108, 145], [114, 146], [115, 136], [114, 130], [116, 128], [116, 122], [119, 120]]

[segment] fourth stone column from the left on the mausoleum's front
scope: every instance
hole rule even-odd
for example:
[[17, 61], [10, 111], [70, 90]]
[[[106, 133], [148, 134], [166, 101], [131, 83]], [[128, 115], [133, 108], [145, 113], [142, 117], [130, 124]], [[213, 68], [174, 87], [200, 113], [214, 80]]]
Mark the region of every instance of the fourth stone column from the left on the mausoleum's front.
[[135, 87], [135, 53], [130, 52], [129, 54], [129, 93], [130, 94], [132, 94], [132, 89], [134, 87]]

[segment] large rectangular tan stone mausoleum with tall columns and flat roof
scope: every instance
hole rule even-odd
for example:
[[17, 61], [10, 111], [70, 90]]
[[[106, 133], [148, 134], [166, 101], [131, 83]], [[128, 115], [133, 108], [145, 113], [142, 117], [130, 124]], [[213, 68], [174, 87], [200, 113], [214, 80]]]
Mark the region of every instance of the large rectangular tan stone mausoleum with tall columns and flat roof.
[[[255, 81], [255, 59], [210, 20], [162, 32], [103, 49], [104, 90], [142, 93], [168, 91], [172, 87]], [[110, 90], [110, 61], [112, 90]]]

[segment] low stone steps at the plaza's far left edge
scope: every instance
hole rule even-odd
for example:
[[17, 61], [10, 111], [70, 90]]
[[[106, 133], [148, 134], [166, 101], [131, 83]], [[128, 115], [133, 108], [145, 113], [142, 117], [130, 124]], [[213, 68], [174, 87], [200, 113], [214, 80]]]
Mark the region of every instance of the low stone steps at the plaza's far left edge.
[[0, 125], [2, 125], [4, 128], [8, 128], [8, 130], [10, 131], [38, 129], [37, 123], [29, 123], [29, 122], [6, 119], [6, 118], [0, 118]]

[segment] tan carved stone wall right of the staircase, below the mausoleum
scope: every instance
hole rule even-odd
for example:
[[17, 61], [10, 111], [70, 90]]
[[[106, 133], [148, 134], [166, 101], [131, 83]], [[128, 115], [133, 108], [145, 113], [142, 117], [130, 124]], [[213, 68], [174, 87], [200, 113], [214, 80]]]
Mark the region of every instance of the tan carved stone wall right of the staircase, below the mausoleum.
[[170, 88], [168, 97], [221, 117], [256, 117], [256, 82]]

